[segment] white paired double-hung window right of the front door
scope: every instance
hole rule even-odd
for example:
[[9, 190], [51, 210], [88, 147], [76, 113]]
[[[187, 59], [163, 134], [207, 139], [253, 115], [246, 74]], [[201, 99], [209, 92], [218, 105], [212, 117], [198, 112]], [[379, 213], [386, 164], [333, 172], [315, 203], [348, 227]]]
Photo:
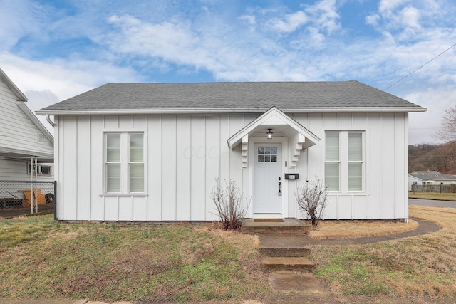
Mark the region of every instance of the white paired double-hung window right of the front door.
[[360, 131], [325, 133], [325, 184], [328, 191], [363, 191], [364, 149]]

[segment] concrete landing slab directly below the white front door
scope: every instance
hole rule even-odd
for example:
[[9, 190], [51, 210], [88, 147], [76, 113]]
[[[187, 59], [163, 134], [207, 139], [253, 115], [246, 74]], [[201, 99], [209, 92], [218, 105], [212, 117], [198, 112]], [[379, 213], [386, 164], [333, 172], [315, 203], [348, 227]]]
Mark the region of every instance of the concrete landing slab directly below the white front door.
[[307, 234], [310, 229], [309, 224], [299, 219], [284, 219], [283, 222], [244, 219], [241, 228], [243, 234]]

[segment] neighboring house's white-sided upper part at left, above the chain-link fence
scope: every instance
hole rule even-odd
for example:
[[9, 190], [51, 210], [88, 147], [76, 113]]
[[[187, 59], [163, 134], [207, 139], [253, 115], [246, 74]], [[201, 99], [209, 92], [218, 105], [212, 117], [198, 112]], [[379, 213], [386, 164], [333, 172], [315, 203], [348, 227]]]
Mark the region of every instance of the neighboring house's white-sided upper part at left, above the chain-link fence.
[[0, 180], [53, 181], [53, 136], [25, 105], [24, 93], [0, 69]]

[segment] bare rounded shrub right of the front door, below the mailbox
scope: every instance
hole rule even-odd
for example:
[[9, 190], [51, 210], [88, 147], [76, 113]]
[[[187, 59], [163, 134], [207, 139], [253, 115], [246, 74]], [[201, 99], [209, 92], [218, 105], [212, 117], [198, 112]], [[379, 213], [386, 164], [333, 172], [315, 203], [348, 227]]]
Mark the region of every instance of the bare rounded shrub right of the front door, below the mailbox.
[[328, 201], [328, 191], [321, 179], [300, 184], [296, 189], [296, 201], [301, 212], [308, 216], [312, 221], [312, 226], [316, 227], [321, 220]]

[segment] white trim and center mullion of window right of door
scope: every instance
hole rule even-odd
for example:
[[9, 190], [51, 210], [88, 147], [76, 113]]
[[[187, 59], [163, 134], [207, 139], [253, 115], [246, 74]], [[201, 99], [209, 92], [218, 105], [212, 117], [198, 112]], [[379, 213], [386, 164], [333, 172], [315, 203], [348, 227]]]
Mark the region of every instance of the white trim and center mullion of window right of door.
[[[366, 137], [368, 130], [358, 128], [347, 128], [347, 129], [323, 129], [323, 142], [322, 142], [322, 175], [324, 180], [325, 167], [326, 167], [326, 132], [338, 132], [339, 133], [339, 190], [328, 190], [330, 194], [366, 194], [366, 175], [367, 175], [367, 159], [366, 159]], [[360, 132], [362, 134], [362, 145], [363, 145], [363, 172], [362, 172], [362, 187], [361, 190], [348, 190], [348, 133]]]

